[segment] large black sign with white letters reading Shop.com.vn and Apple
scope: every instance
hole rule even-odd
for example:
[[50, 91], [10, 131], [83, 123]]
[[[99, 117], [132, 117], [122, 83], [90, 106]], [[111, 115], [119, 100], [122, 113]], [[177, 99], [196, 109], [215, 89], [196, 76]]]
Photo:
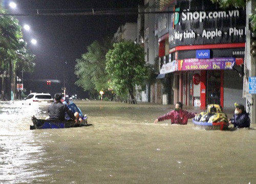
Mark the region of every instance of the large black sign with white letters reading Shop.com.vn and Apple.
[[[203, 4], [201, 6], [203, 8]], [[175, 17], [178, 17], [175, 20], [179, 21], [175, 22], [175, 27], [172, 25], [173, 14], [169, 15], [169, 48], [190, 44], [245, 42], [245, 10], [184, 10], [185, 7], [180, 7], [180, 11], [175, 12]]]

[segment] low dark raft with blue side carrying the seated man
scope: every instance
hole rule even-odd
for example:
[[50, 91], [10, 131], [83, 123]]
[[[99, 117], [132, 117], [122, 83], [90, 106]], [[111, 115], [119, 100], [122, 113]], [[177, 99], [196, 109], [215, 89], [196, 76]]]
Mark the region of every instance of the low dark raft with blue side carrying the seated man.
[[82, 127], [90, 126], [87, 123], [87, 118], [83, 120], [80, 124], [75, 124], [75, 121], [60, 121], [60, 120], [44, 120], [37, 119], [35, 116], [31, 118], [33, 125], [30, 125], [30, 130], [33, 129], [47, 129], [47, 128], [71, 128], [71, 127]]

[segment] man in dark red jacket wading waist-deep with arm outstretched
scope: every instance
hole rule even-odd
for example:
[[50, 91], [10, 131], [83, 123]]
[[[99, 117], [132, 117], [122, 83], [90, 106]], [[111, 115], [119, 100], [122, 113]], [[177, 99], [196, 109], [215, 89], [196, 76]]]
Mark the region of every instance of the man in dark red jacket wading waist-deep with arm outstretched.
[[163, 116], [158, 117], [154, 123], [170, 119], [172, 124], [186, 125], [188, 119], [196, 116], [196, 112], [182, 110], [182, 106], [183, 104], [181, 102], [177, 102], [175, 104], [175, 110], [169, 111]]

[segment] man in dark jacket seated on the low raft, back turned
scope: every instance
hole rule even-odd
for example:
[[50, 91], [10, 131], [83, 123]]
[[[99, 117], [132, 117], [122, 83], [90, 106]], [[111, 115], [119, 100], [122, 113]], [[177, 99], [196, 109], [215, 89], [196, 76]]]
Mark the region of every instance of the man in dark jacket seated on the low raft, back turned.
[[62, 94], [60, 93], [57, 93], [54, 95], [55, 102], [53, 102], [48, 108], [48, 113], [50, 117], [49, 119], [61, 120], [61, 121], [65, 120], [65, 115], [67, 112], [69, 116], [77, 122], [74, 116], [74, 113], [71, 110], [69, 110], [67, 105], [61, 103], [61, 97], [62, 97]]

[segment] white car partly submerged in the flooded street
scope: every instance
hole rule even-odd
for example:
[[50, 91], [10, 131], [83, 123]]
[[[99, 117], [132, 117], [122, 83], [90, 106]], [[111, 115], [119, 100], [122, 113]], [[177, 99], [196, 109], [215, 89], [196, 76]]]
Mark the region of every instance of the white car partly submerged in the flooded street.
[[29, 94], [24, 105], [50, 105], [53, 102], [53, 98], [49, 93], [31, 93]]

